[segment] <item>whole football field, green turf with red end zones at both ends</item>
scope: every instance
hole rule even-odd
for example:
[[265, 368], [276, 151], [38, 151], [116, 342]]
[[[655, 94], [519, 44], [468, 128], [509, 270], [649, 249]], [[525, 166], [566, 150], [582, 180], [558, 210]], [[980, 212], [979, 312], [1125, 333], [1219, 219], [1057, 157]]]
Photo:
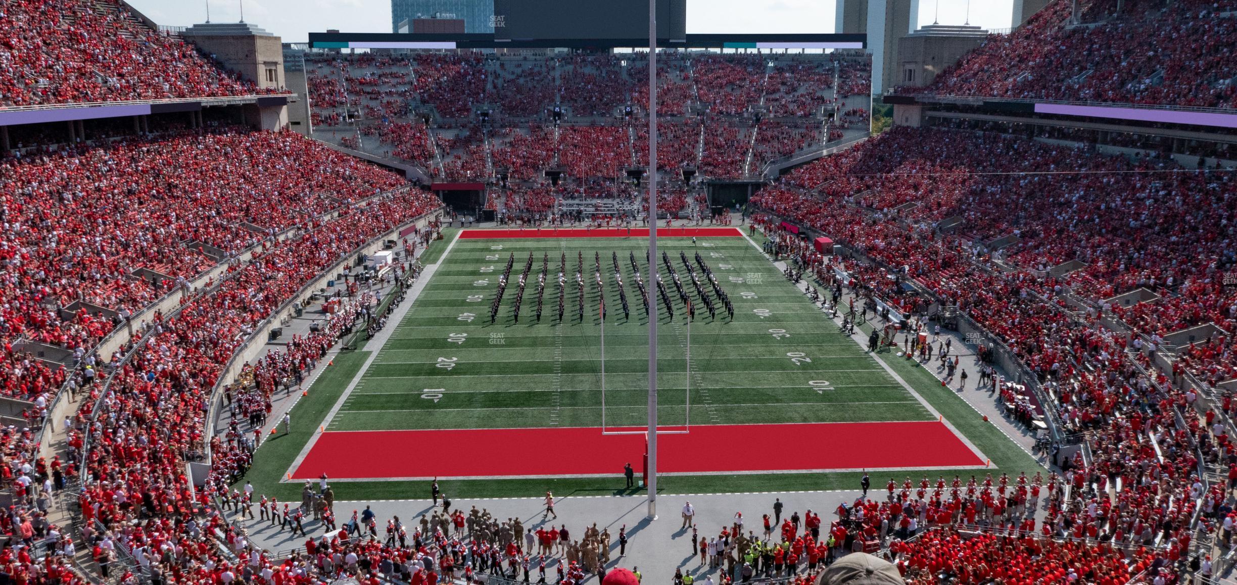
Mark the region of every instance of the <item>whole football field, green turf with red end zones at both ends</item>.
[[[696, 234], [658, 239], [663, 296], [647, 237], [461, 233], [289, 479], [583, 477], [623, 463], [640, 472], [651, 319], [662, 472], [983, 466], [752, 240]], [[391, 449], [359, 448], [375, 439]], [[928, 448], [899, 448], [908, 440]], [[527, 449], [550, 456], [512, 456]]]

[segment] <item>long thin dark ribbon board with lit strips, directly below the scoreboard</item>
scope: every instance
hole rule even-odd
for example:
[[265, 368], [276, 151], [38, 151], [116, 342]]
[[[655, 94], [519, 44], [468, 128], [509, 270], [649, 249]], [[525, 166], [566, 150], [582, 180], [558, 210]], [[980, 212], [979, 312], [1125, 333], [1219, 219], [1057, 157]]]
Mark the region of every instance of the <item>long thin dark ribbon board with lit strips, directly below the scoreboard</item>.
[[[867, 35], [687, 35], [683, 40], [658, 40], [662, 48], [866, 48]], [[517, 38], [492, 33], [310, 32], [309, 48], [586, 48], [647, 47], [643, 38]]]

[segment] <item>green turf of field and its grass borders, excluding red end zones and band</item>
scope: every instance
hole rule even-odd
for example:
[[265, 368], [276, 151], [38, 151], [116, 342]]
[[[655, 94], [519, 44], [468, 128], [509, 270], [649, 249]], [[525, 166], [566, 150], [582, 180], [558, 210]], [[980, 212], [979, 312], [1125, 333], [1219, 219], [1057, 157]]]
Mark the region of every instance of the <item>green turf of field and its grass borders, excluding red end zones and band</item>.
[[[448, 240], [427, 252], [440, 265], [417, 296], [407, 315], [388, 325], [390, 340], [381, 348], [341, 355], [297, 404], [293, 421], [306, 421], [287, 438], [259, 449], [255, 485], [266, 493], [289, 497], [297, 487], [280, 484], [293, 458], [313, 437], [318, 424], [327, 430], [468, 429], [517, 427], [638, 427], [646, 423], [648, 319], [635, 286], [630, 252], [646, 275], [643, 239], [520, 239]], [[696, 318], [687, 324], [678, 294], [667, 282], [675, 315], [669, 318], [656, 289], [659, 350], [659, 421], [666, 427], [690, 424], [931, 421], [931, 414], [858, 344], [790, 284], [769, 260], [745, 237], [659, 239], [659, 251], [670, 256], [684, 289], [696, 302]], [[687, 254], [705, 291], [704, 273], [694, 260], [699, 252], [735, 305], [731, 320], [703, 310], [687, 270]], [[518, 276], [529, 252], [533, 267], [524, 292], [520, 322], [512, 318]], [[559, 258], [567, 254], [564, 319], [558, 319]], [[585, 310], [578, 318], [576, 255], [584, 254]], [[601, 255], [604, 289], [594, 280], [594, 252]], [[631, 307], [622, 317], [611, 254]], [[432, 254], [432, 256], [429, 255]], [[490, 303], [499, 276], [515, 254], [511, 280], [495, 323]], [[542, 257], [549, 267], [544, 309], [534, 317], [537, 277]], [[605, 296], [605, 325], [597, 314]], [[690, 335], [689, 335], [690, 329]], [[605, 393], [602, 397], [602, 330]], [[690, 340], [690, 361], [688, 343]], [[327, 413], [344, 387], [360, 371], [370, 351], [372, 364], [341, 408]], [[967, 439], [992, 458], [993, 466], [1013, 474], [1037, 469], [1034, 460], [952, 391], [941, 388], [923, 367], [884, 355], [886, 361]], [[690, 370], [690, 371], [689, 371]], [[690, 392], [688, 387], [690, 386]], [[604, 404], [604, 406], [602, 406]], [[688, 407], [688, 404], [690, 404]], [[308, 424], [313, 428], [308, 428]], [[941, 471], [933, 470], [933, 474]], [[972, 472], [970, 470], [967, 474]], [[854, 487], [860, 474], [777, 474], [738, 476], [672, 476], [659, 489], [667, 492], [829, 490]], [[581, 477], [502, 481], [444, 481], [443, 489], [461, 497], [527, 496], [547, 489], [558, 492], [618, 493], [615, 480]], [[338, 482], [341, 498], [422, 497], [424, 486], [406, 481]], [[286, 493], [285, 493], [286, 492]]]

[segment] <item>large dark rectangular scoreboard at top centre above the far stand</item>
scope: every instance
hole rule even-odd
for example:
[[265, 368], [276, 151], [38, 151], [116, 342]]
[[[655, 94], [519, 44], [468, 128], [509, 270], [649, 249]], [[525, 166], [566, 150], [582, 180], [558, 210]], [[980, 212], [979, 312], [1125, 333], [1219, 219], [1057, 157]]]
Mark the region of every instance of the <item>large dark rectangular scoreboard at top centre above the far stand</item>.
[[[649, 0], [494, 0], [494, 40], [648, 40]], [[656, 0], [658, 43], [687, 38], [687, 0]], [[644, 43], [642, 43], [644, 45]]]

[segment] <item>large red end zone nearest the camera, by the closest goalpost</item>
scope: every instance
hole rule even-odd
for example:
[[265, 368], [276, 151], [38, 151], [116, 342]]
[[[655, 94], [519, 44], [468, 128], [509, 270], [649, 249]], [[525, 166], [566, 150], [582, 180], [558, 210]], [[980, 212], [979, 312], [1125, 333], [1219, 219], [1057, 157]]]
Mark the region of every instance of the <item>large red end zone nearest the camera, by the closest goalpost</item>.
[[[664, 474], [983, 465], [936, 421], [708, 424], [657, 440]], [[291, 479], [617, 476], [626, 463], [640, 470], [643, 454], [643, 434], [600, 428], [327, 432]]]

